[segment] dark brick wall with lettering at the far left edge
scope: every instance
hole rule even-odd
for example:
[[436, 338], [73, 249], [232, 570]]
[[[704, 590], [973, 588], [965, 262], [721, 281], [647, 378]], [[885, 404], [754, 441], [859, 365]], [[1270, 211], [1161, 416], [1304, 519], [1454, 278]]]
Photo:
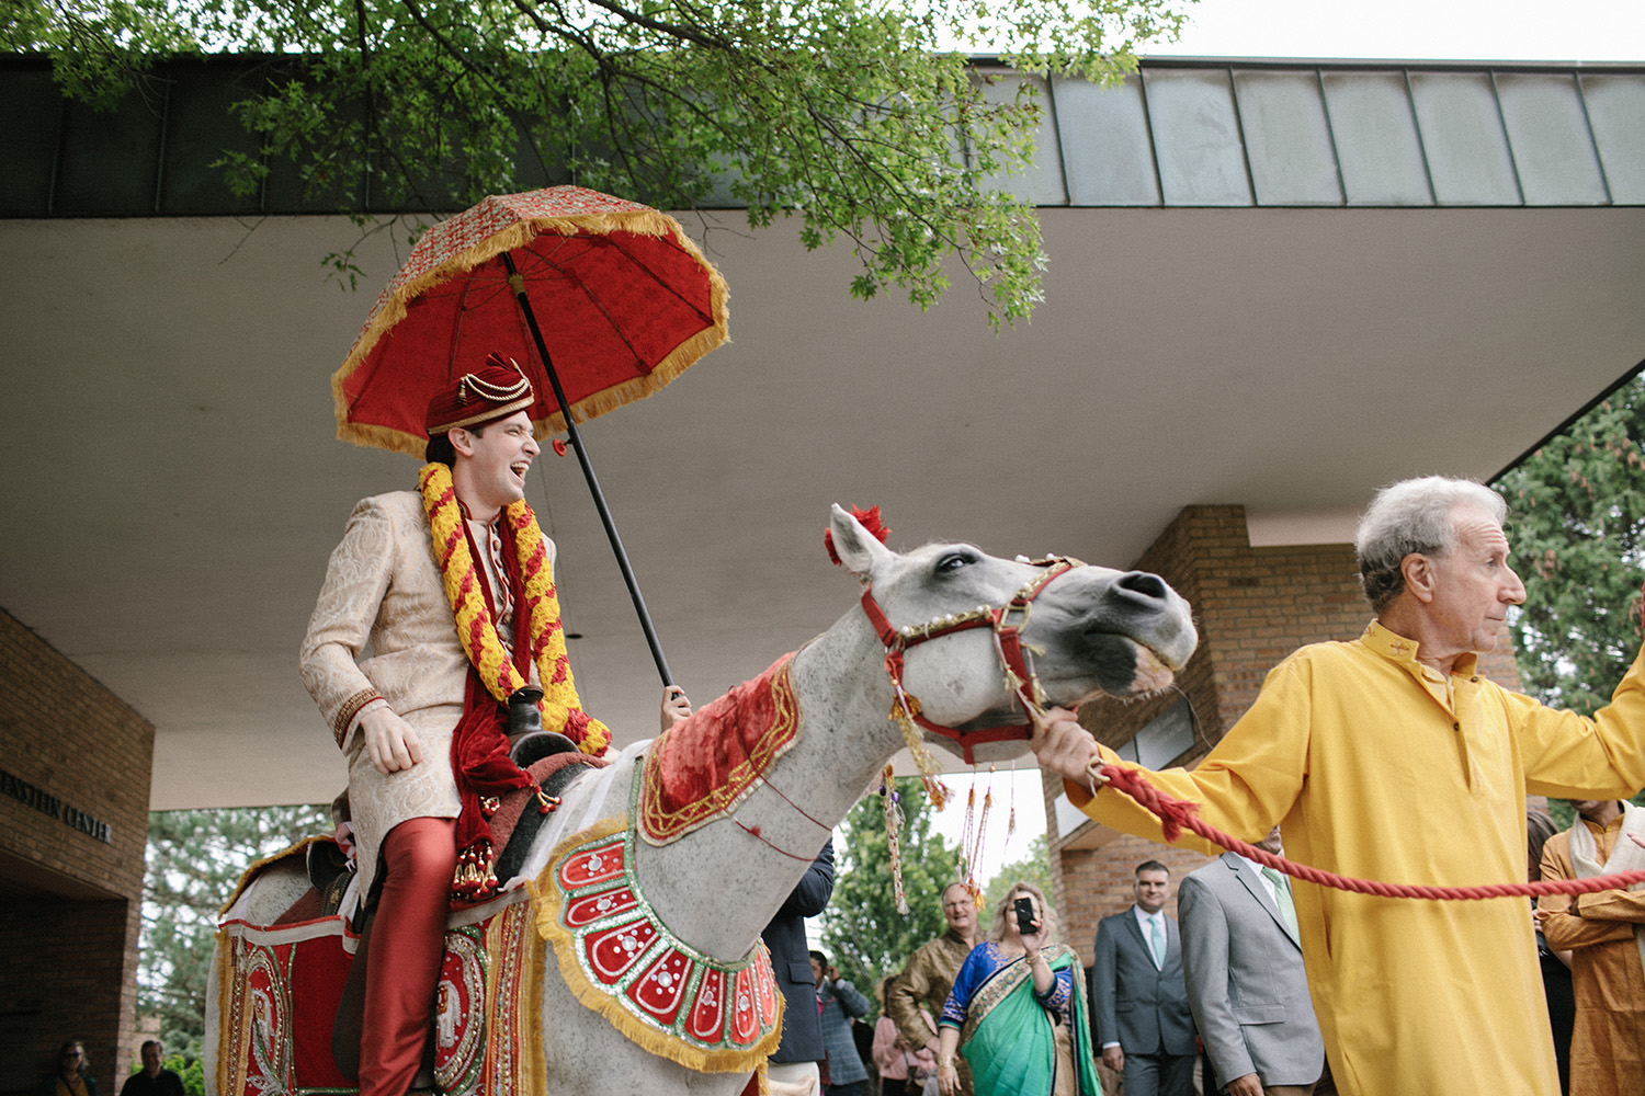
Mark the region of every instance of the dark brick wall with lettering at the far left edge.
[[146, 720], [0, 610], [0, 1091], [64, 1038], [110, 1091], [135, 1055], [153, 751]]

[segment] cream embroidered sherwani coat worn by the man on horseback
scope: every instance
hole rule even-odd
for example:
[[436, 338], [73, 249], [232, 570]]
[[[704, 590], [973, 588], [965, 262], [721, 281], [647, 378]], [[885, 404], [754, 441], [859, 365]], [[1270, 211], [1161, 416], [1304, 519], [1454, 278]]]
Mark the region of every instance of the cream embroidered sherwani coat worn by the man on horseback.
[[[543, 542], [553, 565], [554, 542]], [[354, 508], [303, 638], [301, 672], [349, 761], [360, 886], [368, 892], [383, 835], [406, 818], [456, 818], [462, 807], [451, 733], [462, 718], [469, 656], [457, 642], [416, 491], [377, 495]], [[372, 766], [355, 716], [378, 693], [418, 733], [423, 761], [411, 769], [382, 774]]]

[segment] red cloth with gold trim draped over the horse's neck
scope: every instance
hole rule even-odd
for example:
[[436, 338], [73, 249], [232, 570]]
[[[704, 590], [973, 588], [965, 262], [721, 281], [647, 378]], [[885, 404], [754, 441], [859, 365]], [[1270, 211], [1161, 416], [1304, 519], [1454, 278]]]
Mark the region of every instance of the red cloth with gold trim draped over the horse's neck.
[[[758, 787], [772, 762], [795, 744], [799, 702], [790, 675], [793, 662], [795, 656], [785, 654], [765, 674], [737, 685], [651, 743], [650, 764], [638, 781], [638, 810], [633, 812], [646, 843], [678, 841], [729, 813]], [[753, 741], [748, 741], [750, 731]], [[724, 774], [704, 764], [725, 758], [727, 749], [744, 756]], [[696, 782], [709, 787], [693, 789]]]

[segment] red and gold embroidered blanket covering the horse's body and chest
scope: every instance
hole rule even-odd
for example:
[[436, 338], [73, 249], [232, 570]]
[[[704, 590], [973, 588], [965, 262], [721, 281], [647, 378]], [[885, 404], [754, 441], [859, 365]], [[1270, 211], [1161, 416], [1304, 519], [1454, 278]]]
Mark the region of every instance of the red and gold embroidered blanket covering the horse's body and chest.
[[[433, 1032], [434, 1081], [447, 1096], [553, 1093], [541, 1030], [549, 948], [576, 999], [650, 1053], [704, 1073], [763, 1075], [783, 1011], [770, 953], [760, 943], [739, 961], [706, 956], [655, 914], [628, 825], [642, 784], [633, 781], [627, 817], [558, 841], [535, 881], [452, 912]], [[359, 1091], [331, 1055], [359, 948], [347, 919], [306, 917], [319, 909], [309, 896], [268, 925], [243, 914], [255, 874], [281, 858], [247, 873], [219, 925], [219, 1096]]]

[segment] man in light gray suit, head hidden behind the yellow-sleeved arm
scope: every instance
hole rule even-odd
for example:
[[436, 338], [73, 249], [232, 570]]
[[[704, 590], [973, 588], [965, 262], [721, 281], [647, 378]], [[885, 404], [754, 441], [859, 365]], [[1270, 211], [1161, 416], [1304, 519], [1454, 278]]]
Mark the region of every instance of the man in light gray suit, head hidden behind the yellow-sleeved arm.
[[[1257, 843], [1280, 853], [1280, 828]], [[1224, 853], [1183, 877], [1188, 1004], [1217, 1088], [1229, 1096], [1309, 1096], [1326, 1047], [1308, 999], [1290, 879]]]

